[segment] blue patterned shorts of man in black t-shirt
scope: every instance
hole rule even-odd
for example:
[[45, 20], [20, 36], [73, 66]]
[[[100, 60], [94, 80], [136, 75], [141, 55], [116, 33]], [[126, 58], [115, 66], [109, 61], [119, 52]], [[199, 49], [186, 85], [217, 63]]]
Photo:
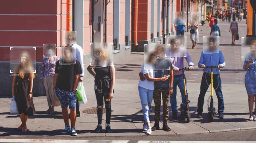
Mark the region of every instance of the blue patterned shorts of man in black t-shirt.
[[74, 95], [71, 91], [60, 90], [56, 87], [55, 94], [61, 102], [61, 108], [69, 107], [69, 109], [76, 109], [76, 93]]

